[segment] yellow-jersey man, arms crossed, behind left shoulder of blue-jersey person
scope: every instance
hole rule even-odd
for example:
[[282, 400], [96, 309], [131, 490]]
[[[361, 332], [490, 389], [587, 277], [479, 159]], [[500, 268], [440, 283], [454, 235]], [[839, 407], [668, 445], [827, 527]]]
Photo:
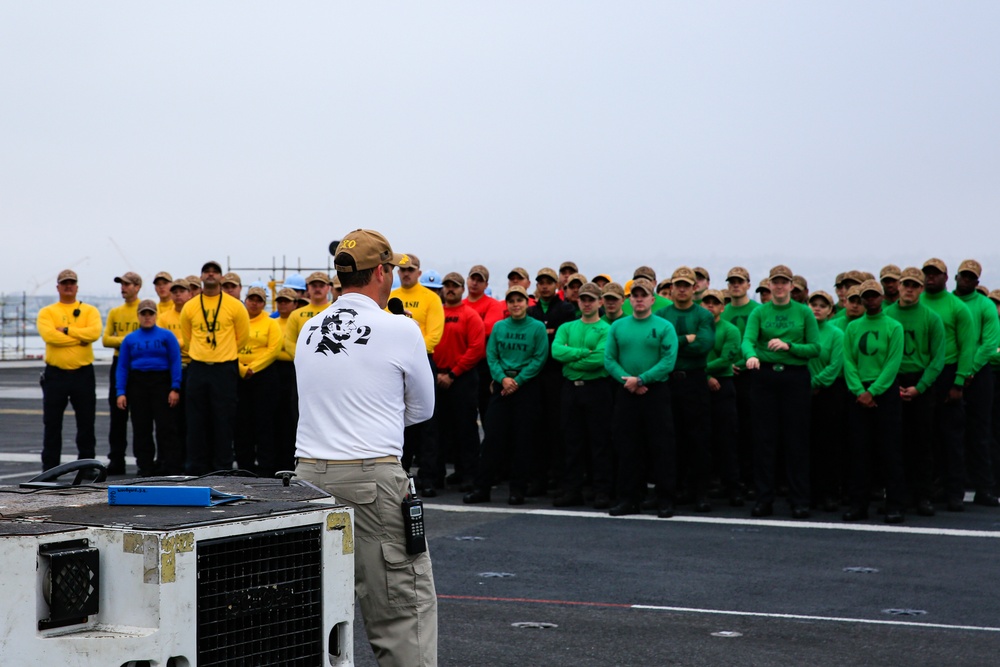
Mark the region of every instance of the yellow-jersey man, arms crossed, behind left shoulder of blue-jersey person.
[[104, 347], [114, 349], [115, 358], [111, 362], [108, 376], [108, 405], [111, 407], [111, 428], [108, 431], [108, 474], [125, 474], [125, 451], [128, 449], [128, 409], [118, 409], [116, 376], [118, 373], [118, 349], [125, 336], [139, 328], [139, 290], [142, 278], [129, 271], [115, 278], [121, 285], [125, 303], [112, 308], [104, 327]]

